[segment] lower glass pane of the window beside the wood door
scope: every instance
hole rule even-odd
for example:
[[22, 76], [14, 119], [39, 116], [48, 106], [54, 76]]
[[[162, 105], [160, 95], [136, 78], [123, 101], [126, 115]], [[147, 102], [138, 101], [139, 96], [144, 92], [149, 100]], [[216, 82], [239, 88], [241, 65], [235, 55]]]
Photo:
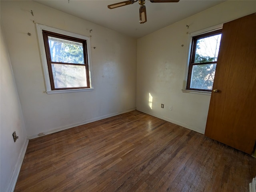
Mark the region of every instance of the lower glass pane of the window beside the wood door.
[[216, 63], [193, 65], [190, 88], [212, 90]]

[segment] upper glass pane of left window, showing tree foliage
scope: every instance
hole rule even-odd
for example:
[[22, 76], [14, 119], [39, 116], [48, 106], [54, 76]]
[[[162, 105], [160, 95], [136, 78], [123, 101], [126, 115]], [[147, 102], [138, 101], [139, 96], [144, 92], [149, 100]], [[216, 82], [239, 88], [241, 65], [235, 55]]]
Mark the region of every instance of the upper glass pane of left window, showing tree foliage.
[[48, 39], [53, 62], [84, 64], [82, 43], [50, 36]]

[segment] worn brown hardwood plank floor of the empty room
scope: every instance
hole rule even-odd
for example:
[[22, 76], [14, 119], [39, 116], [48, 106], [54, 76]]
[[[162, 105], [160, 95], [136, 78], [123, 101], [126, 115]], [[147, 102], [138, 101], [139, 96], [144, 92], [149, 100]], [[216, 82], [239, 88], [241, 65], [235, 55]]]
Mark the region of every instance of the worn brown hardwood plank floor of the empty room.
[[132, 111], [28, 143], [15, 192], [248, 192], [256, 159]]

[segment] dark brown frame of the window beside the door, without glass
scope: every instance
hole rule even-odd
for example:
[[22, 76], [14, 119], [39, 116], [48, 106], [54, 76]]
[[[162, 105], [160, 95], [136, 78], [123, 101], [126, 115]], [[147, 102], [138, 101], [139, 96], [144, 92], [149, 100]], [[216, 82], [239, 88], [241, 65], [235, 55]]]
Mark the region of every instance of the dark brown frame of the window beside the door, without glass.
[[195, 91], [205, 91], [205, 92], [212, 92], [212, 89], [197, 89], [197, 88], [190, 88], [190, 83], [191, 83], [191, 77], [192, 77], [192, 68], [194, 65], [205, 65], [205, 64], [214, 64], [216, 63], [217, 66], [217, 61], [212, 61], [212, 62], [204, 62], [204, 63], [194, 63], [195, 60], [195, 55], [196, 55], [196, 42], [198, 39], [210, 37], [213, 35], [218, 35], [222, 34], [222, 29], [218, 29], [215, 31], [211, 31], [208, 33], [196, 35], [192, 37], [192, 43], [190, 47], [190, 59], [189, 59], [189, 65], [188, 65], [188, 78], [187, 78], [187, 84], [186, 84], [186, 90], [195, 90]]

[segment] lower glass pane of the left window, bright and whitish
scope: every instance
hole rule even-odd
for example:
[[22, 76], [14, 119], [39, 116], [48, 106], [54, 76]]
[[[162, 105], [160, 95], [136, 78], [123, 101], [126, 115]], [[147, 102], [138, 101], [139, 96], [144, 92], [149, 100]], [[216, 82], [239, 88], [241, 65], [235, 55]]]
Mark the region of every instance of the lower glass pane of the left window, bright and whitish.
[[81, 65], [52, 63], [55, 88], [86, 87], [86, 69]]

